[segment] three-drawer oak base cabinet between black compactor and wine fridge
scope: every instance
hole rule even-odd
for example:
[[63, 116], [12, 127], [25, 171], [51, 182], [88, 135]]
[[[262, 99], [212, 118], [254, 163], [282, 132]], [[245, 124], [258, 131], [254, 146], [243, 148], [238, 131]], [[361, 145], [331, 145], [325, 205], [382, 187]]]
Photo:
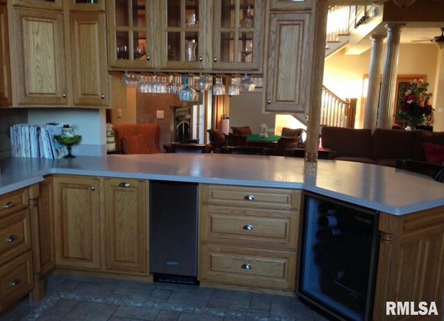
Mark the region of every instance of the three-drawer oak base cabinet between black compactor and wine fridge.
[[294, 290], [300, 191], [200, 185], [199, 280]]

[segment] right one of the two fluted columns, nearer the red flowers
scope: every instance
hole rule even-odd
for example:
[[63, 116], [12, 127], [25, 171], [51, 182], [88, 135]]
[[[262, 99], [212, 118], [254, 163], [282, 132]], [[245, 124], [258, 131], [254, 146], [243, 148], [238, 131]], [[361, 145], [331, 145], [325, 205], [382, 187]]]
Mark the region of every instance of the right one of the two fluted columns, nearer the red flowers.
[[404, 24], [387, 24], [386, 62], [382, 78], [377, 127], [391, 129], [395, 109], [396, 74], [400, 55], [400, 36]]

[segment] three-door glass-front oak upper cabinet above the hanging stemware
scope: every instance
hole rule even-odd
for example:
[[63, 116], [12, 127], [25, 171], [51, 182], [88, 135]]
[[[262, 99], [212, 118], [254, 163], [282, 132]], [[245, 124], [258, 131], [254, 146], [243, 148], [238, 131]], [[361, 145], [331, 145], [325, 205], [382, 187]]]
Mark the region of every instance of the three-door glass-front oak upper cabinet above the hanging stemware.
[[114, 0], [108, 12], [110, 70], [262, 72], [264, 0]]

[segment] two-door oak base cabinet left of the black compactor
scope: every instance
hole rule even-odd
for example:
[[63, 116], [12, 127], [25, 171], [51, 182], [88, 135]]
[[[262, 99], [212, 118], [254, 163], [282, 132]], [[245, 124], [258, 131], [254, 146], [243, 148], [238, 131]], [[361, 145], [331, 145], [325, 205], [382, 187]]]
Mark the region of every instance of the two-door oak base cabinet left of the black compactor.
[[148, 181], [53, 177], [56, 265], [148, 275]]

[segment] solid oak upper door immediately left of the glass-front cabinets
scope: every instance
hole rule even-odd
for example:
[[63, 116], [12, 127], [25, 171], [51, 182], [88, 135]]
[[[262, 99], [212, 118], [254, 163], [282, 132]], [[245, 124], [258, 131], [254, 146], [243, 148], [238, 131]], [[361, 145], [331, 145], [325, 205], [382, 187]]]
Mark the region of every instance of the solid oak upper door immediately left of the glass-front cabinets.
[[105, 14], [70, 15], [75, 105], [108, 106]]

